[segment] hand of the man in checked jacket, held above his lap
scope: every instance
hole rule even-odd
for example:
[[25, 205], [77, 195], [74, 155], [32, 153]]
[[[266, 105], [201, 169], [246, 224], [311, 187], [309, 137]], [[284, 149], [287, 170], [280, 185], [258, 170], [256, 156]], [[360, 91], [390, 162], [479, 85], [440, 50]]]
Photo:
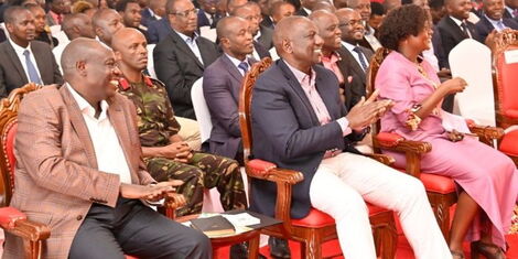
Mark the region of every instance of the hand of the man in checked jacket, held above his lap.
[[120, 195], [125, 198], [143, 198], [151, 202], [160, 201], [163, 195], [175, 191], [182, 181], [161, 182], [154, 185], [120, 184]]

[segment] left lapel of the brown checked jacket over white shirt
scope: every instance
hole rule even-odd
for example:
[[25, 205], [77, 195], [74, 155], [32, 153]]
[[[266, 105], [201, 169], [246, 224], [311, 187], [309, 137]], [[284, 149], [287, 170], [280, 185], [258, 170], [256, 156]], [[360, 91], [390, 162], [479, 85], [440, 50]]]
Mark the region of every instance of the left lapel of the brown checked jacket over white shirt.
[[90, 165], [90, 168], [97, 169], [98, 166], [94, 144], [91, 143], [90, 133], [88, 131], [88, 128], [86, 127], [85, 119], [83, 118], [83, 114], [79, 110], [79, 106], [74, 100], [74, 97], [72, 97], [72, 94], [66, 87], [66, 85], [63, 85], [60, 88], [60, 93], [68, 109], [72, 126], [76, 131], [77, 137], [84, 144], [86, 157], [88, 158], [88, 164]]

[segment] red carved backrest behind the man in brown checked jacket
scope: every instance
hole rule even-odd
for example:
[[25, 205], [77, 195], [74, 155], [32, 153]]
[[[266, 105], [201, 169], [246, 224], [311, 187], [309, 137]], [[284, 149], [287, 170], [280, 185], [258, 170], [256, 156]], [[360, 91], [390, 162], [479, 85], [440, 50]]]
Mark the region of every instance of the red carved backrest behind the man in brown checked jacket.
[[14, 137], [18, 129], [18, 110], [22, 98], [42, 86], [33, 83], [11, 91], [9, 97], [0, 101], [0, 192], [2, 195], [1, 206], [11, 202], [14, 190]]

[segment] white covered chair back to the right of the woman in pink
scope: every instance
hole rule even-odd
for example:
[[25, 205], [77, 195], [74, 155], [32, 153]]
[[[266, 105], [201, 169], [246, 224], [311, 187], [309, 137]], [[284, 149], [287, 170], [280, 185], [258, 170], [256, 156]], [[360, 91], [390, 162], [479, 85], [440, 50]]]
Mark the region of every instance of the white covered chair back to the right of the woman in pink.
[[454, 110], [478, 125], [496, 126], [489, 47], [466, 39], [450, 52], [449, 61], [452, 76], [464, 78], [468, 85], [455, 95]]

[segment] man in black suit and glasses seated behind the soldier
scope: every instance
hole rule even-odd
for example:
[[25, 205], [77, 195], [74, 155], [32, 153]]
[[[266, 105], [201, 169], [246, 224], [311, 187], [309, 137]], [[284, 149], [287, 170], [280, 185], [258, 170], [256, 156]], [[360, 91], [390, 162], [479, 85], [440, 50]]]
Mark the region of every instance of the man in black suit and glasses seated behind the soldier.
[[176, 116], [196, 119], [191, 88], [219, 51], [216, 44], [197, 35], [196, 9], [190, 0], [169, 0], [165, 11], [172, 32], [154, 47], [154, 69], [165, 84]]

